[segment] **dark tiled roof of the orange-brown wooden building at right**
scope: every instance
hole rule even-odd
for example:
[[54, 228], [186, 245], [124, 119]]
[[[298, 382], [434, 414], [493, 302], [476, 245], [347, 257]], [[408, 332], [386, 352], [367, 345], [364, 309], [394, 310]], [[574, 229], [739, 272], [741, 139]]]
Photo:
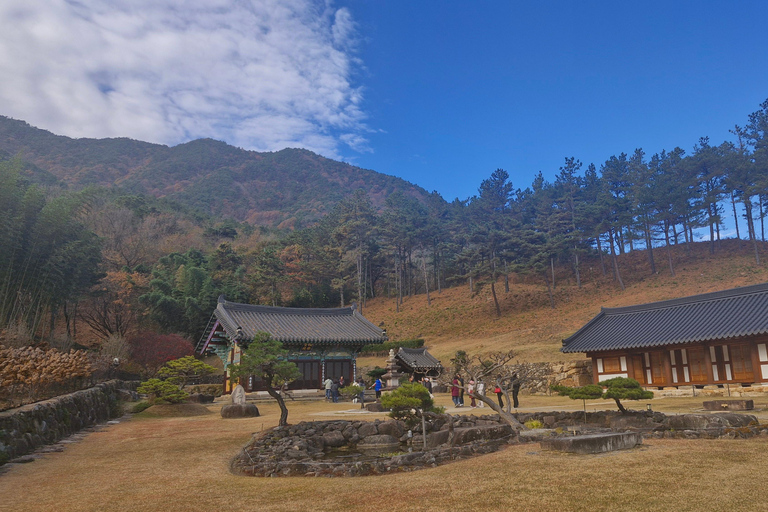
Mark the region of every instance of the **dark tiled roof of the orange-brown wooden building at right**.
[[768, 333], [768, 283], [600, 313], [563, 352], [659, 347]]

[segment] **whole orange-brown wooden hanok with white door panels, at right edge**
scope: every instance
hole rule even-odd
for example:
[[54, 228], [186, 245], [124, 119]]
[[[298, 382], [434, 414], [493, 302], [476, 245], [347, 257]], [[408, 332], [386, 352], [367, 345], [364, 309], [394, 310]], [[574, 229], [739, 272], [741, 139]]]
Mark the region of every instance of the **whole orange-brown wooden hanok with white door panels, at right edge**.
[[600, 313], [563, 340], [586, 352], [595, 382], [645, 387], [768, 382], [768, 283]]

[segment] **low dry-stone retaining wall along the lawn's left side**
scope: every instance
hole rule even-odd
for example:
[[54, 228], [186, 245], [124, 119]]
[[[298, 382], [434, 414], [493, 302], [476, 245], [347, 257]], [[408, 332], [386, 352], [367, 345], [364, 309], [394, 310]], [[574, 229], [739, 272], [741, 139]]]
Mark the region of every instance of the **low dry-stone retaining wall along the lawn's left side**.
[[0, 464], [122, 414], [118, 402], [137, 382], [112, 380], [50, 400], [0, 412]]

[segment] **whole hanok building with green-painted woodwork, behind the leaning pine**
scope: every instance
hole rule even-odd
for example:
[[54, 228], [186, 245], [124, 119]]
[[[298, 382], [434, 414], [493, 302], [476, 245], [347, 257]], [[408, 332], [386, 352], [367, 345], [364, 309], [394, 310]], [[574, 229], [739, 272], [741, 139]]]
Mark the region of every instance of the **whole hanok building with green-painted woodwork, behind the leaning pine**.
[[[292, 389], [319, 389], [330, 377], [356, 377], [357, 354], [364, 345], [383, 343], [386, 333], [366, 320], [355, 306], [347, 308], [281, 308], [229, 302], [219, 297], [211, 326], [200, 352], [215, 352], [224, 366], [240, 362], [240, 344], [257, 332], [267, 332], [280, 341], [288, 360], [296, 363], [302, 378]], [[254, 378], [242, 383], [246, 391], [264, 389]], [[231, 391], [232, 383], [225, 382]]]

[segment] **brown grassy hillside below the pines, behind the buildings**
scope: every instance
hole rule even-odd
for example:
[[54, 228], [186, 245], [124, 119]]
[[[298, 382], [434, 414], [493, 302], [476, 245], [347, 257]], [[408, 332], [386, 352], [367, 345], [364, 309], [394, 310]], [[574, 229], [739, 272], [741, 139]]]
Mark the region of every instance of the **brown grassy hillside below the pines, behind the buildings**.
[[[659, 265], [650, 275], [644, 251], [620, 257], [626, 290], [611, 276], [603, 277], [599, 261], [586, 261], [585, 283], [578, 289], [567, 273], [558, 274], [556, 309], [551, 309], [543, 282], [512, 276], [510, 291], [497, 286], [502, 307], [496, 317], [490, 286], [470, 294], [468, 287], [406, 298], [396, 312], [394, 299], [369, 300], [363, 314], [374, 324], [384, 323], [392, 340], [424, 338], [429, 351], [444, 364], [457, 350], [488, 352], [514, 349], [519, 361], [583, 359], [583, 354], [559, 352], [561, 341], [600, 312], [618, 307], [725, 290], [768, 281], [768, 268], [755, 264], [746, 241], [726, 240], [714, 256], [706, 243], [692, 244], [691, 253], [677, 249], [675, 277]], [[658, 265], [658, 263], [657, 263]], [[361, 365], [382, 365], [381, 358], [365, 358]]]

